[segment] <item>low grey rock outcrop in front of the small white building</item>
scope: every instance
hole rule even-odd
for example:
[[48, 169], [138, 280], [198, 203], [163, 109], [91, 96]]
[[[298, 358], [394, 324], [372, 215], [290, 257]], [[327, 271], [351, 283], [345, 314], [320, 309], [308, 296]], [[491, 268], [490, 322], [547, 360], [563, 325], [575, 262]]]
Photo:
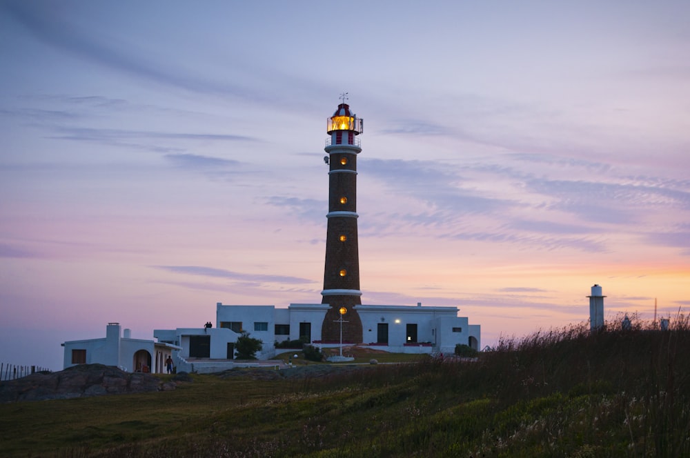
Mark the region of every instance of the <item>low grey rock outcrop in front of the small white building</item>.
[[174, 390], [175, 382], [154, 375], [124, 372], [114, 366], [81, 364], [60, 372], [37, 372], [0, 382], [0, 402], [70, 399], [124, 393]]

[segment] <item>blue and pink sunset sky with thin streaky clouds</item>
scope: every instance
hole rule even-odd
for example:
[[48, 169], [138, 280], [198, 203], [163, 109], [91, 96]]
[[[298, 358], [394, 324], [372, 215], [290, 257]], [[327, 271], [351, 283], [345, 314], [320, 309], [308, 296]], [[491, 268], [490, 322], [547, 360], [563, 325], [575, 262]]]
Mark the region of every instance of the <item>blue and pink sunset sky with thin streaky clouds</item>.
[[320, 303], [364, 119], [362, 303], [500, 337], [690, 309], [690, 2], [0, 2], [0, 361]]

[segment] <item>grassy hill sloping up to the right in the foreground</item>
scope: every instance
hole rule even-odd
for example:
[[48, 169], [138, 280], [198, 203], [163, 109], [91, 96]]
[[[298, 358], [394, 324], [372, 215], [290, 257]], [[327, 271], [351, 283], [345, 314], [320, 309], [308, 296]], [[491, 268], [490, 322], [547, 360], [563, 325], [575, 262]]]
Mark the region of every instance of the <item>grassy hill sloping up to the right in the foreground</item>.
[[504, 339], [477, 361], [356, 367], [3, 404], [0, 455], [690, 457], [687, 317]]

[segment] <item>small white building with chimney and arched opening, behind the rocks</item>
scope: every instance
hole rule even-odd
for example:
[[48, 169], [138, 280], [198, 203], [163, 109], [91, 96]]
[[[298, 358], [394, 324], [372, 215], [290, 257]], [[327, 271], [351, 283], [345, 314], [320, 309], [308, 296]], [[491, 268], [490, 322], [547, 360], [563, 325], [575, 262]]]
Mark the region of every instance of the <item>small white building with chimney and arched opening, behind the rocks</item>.
[[128, 372], [166, 372], [165, 361], [175, 345], [146, 339], [132, 339], [130, 330], [122, 335], [119, 323], [108, 323], [106, 337], [66, 341], [63, 368], [77, 364], [105, 364]]

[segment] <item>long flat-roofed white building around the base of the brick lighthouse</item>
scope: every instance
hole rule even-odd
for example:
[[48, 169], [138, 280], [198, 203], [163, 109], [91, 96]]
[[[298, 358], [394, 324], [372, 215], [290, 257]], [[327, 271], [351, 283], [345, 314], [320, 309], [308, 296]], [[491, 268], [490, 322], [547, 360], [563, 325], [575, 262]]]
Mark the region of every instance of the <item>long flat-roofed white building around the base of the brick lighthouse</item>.
[[[301, 340], [318, 348], [335, 348], [340, 341], [324, 341], [322, 324], [331, 308], [323, 303], [292, 303], [275, 306], [228, 306], [216, 304], [216, 327], [155, 330], [159, 342], [179, 348], [173, 352], [177, 370], [217, 372], [236, 366], [235, 342], [243, 332], [263, 343], [257, 359], [270, 359], [275, 344]], [[453, 353], [458, 344], [480, 348], [480, 326], [458, 317], [457, 307], [355, 306], [362, 320], [364, 342], [343, 341], [396, 353]], [[348, 326], [347, 314], [343, 326]], [[243, 363], [246, 365], [246, 363]]]

